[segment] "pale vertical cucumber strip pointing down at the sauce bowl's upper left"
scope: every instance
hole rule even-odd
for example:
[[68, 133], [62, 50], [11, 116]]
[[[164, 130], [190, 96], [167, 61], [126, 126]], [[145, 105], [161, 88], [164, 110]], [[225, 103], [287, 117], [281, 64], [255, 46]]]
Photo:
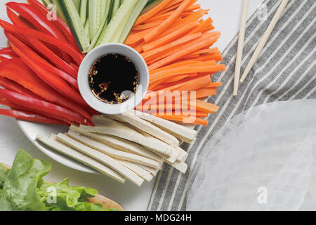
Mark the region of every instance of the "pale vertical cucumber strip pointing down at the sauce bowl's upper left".
[[100, 28], [101, 1], [102, 0], [88, 0], [88, 13], [90, 21], [89, 30], [91, 40], [96, 37], [96, 33]]

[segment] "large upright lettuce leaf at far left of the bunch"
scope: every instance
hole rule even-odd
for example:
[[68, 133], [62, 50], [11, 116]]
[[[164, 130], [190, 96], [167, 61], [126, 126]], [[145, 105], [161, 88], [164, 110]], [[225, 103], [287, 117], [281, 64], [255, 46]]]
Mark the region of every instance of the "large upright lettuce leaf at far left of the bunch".
[[37, 186], [43, 184], [43, 176], [50, 171], [50, 163], [33, 160], [29, 153], [19, 149], [1, 191], [0, 211], [46, 210]]

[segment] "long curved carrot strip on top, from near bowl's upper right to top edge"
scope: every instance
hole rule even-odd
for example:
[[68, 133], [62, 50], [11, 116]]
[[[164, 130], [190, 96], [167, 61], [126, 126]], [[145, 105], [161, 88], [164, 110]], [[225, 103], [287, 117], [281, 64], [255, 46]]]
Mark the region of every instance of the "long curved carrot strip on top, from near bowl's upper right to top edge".
[[172, 15], [169, 16], [168, 19], [164, 20], [164, 23], [159, 25], [158, 27], [155, 27], [152, 32], [145, 35], [144, 40], [148, 43], [149, 41], [152, 41], [154, 37], [157, 37], [157, 34], [164, 32], [168, 27], [170, 27], [180, 16], [183, 11], [185, 11], [185, 8], [190, 4], [192, 0], [184, 0], [182, 4], [174, 11]]

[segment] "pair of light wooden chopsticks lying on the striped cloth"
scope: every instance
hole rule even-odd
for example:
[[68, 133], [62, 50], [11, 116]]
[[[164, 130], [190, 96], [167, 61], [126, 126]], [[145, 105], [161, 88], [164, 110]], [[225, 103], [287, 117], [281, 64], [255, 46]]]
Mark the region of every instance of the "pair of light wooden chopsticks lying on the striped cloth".
[[279, 5], [279, 8], [277, 9], [277, 12], [275, 13], [275, 16], [272, 18], [271, 23], [268, 26], [267, 30], [265, 30], [265, 33], [263, 34], [263, 37], [261, 38], [256, 50], [254, 51], [253, 56], [251, 57], [248, 65], [246, 66], [246, 69], [244, 70], [242, 78], [239, 80], [240, 69], [242, 67], [242, 51], [244, 49], [244, 34], [246, 30], [246, 18], [247, 18], [247, 13], [248, 13], [248, 6], [249, 6], [249, 0], [244, 0], [244, 5], [242, 8], [242, 19], [241, 19], [240, 31], [239, 31], [237, 57], [236, 57], [234, 96], [237, 96], [239, 85], [242, 84], [242, 82], [244, 82], [244, 79], [246, 79], [251, 68], [253, 68], [254, 64], [256, 63], [259, 56], [261, 55], [261, 51], [263, 50], [263, 47], [267, 43], [270, 37], [270, 34], [272, 33], [272, 30], [275, 28], [275, 25], [277, 25], [279, 18], [281, 18], [282, 13], [284, 12], [284, 9], [287, 6], [288, 2], [289, 0], [282, 0], [281, 4]]

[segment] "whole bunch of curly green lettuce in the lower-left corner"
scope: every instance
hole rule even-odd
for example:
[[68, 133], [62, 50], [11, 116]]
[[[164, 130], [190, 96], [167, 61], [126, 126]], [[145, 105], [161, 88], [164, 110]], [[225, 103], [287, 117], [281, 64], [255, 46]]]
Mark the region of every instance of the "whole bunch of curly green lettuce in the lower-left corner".
[[0, 211], [110, 211], [87, 198], [98, 194], [93, 188], [70, 186], [69, 179], [50, 183], [43, 177], [51, 164], [32, 159], [19, 149], [11, 169], [0, 165]]

